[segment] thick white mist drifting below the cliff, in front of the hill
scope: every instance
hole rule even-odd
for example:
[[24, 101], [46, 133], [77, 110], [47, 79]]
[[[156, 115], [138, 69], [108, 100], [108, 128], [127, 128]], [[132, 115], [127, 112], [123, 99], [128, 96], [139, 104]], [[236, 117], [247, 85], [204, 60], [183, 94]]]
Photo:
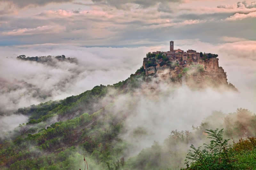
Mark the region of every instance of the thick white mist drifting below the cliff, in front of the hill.
[[[162, 143], [172, 130], [191, 131], [192, 125], [200, 125], [213, 110], [230, 113], [242, 107], [256, 111], [255, 95], [242, 91], [221, 87], [191, 91], [185, 87], [177, 88], [168, 80], [155, 78], [135, 93], [116, 96], [111, 107], [105, 109], [124, 121], [124, 131], [119, 137], [129, 146], [125, 157], [130, 157], [150, 147], [154, 141]], [[255, 92], [255, 89], [250, 91], [252, 94]], [[107, 96], [106, 100], [111, 100], [111, 97]], [[220, 128], [217, 124], [224, 123], [219, 117], [211, 121], [214, 122], [216, 128]]]

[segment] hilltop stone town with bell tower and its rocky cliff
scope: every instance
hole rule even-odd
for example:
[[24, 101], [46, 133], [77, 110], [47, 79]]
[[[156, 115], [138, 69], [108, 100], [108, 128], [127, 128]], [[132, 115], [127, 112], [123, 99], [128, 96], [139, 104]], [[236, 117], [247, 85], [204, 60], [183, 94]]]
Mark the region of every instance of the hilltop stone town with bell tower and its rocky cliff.
[[[171, 79], [174, 83], [197, 89], [206, 86], [228, 85], [227, 74], [219, 67], [218, 55], [197, 52], [188, 49], [174, 49], [174, 42], [170, 41], [170, 51], [156, 51], [147, 53], [143, 59], [146, 76], [153, 75], [162, 79]], [[183, 83], [182, 83], [183, 82]]]

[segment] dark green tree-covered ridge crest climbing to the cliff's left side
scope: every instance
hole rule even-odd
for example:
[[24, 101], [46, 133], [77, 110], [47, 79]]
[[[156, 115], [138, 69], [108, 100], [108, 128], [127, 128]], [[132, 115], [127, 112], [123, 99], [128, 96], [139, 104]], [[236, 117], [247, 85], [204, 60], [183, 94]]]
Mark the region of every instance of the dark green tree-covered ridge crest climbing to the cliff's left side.
[[[124, 81], [114, 85], [97, 85], [92, 90], [87, 90], [77, 96], [70, 96], [60, 101], [48, 101], [39, 105], [19, 108], [15, 113], [29, 115], [27, 124], [36, 124], [44, 122], [56, 115], [65, 117], [67, 115], [74, 117], [84, 112], [92, 114], [98, 111], [102, 106], [97, 101], [106, 96], [109, 90], [116, 90], [116, 94], [133, 91], [140, 87], [141, 82], [145, 79], [145, 70], [142, 67]], [[73, 116], [72, 116], [73, 115]]]

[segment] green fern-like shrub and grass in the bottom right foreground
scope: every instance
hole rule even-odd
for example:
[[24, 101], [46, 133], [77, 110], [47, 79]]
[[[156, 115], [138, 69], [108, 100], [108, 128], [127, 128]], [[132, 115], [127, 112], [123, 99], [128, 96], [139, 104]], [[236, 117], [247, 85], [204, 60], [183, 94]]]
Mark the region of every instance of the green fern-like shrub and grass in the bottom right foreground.
[[[204, 149], [191, 145], [187, 159], [185, 159], [187, 170], [189, 169], [254, 169], [256, 164], [256, 138], [247, 137], [246, 140], [228, 145], [228, 140], [223, 139], [223, 129], [207, 130], [208, 138], [212, 139], [210, 144], [204, 144]], [[184, 170], [186, 170], [184, 169]]]

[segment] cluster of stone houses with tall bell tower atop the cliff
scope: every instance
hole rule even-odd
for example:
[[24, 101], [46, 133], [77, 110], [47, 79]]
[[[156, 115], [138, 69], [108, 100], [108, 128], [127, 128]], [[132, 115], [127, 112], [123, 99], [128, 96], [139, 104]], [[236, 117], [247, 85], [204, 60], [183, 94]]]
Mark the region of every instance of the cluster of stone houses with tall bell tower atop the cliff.
[[200, 53], [196, 52], [196, 50], [188, 49], [187, 52], [184, 52], [181, 49], [174, 49], [174, 42], [170, 41], [170, 51], [161, 52], [156, 51], [153, 54], [162, 54], [166, 56], [169, 61], [172, 62], [179, 62], [180, 65], [187, 64], [189, 62], [196, 62], [200, 60]]

